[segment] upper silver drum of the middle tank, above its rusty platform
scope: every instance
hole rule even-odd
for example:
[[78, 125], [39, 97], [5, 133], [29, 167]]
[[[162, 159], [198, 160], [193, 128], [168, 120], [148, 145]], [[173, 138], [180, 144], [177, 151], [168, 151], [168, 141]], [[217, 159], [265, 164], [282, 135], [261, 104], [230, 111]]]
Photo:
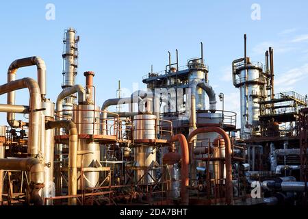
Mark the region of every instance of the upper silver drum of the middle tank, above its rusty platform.
[[140, 114], [133, 116], [133, 140], [154, 140], [156, 123], [155, 115]]

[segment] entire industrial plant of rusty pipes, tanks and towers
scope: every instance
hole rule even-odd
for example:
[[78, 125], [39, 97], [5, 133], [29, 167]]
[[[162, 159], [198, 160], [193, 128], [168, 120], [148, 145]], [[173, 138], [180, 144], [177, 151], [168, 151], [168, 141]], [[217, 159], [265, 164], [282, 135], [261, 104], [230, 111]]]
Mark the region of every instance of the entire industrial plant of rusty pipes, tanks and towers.
[[[232, 62], [238, 129], [237, 114], [216, 107], [224, 97], [209, 84], [202, 42], [201, 57], [179, 66], [178, 51], [175, 63], [169, 53], [165, 70], [143, 77], [147, 90], [103, 103], [94, 72], [75, 83], [75, 29], [63, 42], [56, 100], [48, 99], [40, 57], [8, 65], [0, 86], [8, 121], [0, 127], [0, 205], [307, 204], [307, 95], [274, 92], [272, 48], [265, 65], [252, 62], [245, 35], [244, 57]], [[36, 79], [18, 77], [25, 66], [37, 67]], [[16, 105], [23, 88], [29, 105]]]

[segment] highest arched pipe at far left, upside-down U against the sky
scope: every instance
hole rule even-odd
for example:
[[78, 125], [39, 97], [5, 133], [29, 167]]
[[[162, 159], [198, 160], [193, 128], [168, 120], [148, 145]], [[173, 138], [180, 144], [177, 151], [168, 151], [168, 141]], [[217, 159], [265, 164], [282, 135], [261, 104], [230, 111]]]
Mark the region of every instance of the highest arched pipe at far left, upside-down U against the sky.
[[[18, 68], [22, 68], [25, 66], [34, 66], [36, 65], [38, 71], [38, 85], [40, 87], [40, 94], [42, 99], [44, 99], [44, 96], [46, 95], [46, 65], [44, 63], [44, 60], [42, 60], [40, 57], [33, 56], [33, 57], [26, 57], [20, 60], [15, 60], [10, 64], [10, 67], [8, 68], [8, 83], [10, 81], [16, 80], [16, 72]], [[15, 105], [15, 92], [9, 92], [8, 93], [8, 104]], [[8, 124], [13, 128], [22, 127], [25, 125], [21, 120], [17, 121], [15, 120], [15, 114], [8, 112], [7, 114], [7, 120]]]

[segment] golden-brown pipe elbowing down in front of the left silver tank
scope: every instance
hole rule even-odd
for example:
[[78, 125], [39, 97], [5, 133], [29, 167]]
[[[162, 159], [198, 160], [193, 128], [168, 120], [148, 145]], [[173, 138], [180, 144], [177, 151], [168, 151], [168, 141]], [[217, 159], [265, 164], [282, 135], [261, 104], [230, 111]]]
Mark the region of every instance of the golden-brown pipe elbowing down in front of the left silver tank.
[[[69, 135], [68, 143], [68, 195], [77, 194], [78, 131], [70, 120], [48, 121], [46, 129], [64, 128]], [[68, 205], [77, 205], [76, 198], [68, 198]]]

